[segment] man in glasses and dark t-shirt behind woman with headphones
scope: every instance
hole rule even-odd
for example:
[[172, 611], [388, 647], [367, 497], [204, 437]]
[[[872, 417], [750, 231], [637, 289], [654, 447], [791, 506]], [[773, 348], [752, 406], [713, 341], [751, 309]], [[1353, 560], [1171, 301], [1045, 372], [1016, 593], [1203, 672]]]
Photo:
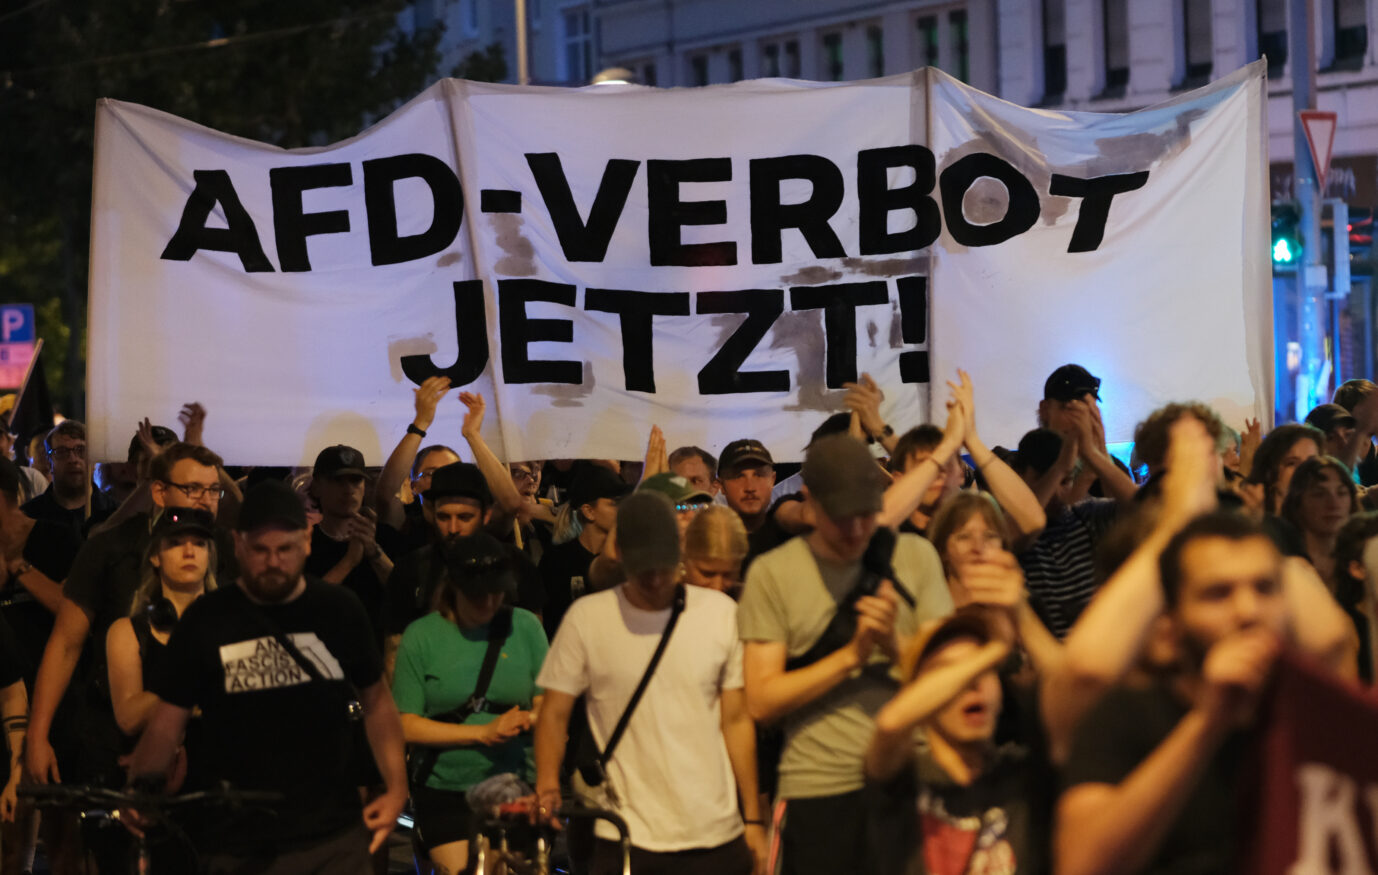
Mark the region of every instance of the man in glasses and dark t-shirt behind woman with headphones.
[[[25, 762], [39, 783], [124, 784], [117, 763], [123, 733], [107, 689], [106, 631], [117, 619], [130, 615], [139, 590], [143, 554], [164, 508], [200, 508], [214, 517], [225, 495], [219, 470], [220, 457], [209, 449], [172, 444], [150, 466], [153, 513], [135, 514], [92, 535], [73, 559], [33, 692]], [[238, 568], [229, 532], [216, 528], [214, 540], [216, 575], [233, 579]], [[63, 699], [88, 635], [94, 659], [87, 660], [76, 681], [80, 694]]]

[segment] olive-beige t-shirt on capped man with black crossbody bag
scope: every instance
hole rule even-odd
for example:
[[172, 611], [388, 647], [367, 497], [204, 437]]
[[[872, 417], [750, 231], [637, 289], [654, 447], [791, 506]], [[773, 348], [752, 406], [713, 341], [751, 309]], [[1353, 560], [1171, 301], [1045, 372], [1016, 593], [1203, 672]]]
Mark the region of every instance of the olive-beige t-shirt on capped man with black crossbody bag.
[[[918, 535], [900, 535], [894, 547], [897, 587], [914, 597], [915, 606], [900, 599], [896, 631], [912, 637], [921, 623], [952, 613], [943, 564], [933, 544]], [[737, 609], [744, 642], [780, 641], [790, 657], [801, 656], [823, 635], [838, 601], [856, 586], [861, 562], [827, 562], [795, 537], [751, 564]], [[885, 661], [876, 653], [872, 661]], [[861, 790], [861, 761], [875, 712], [896, 693], [872, 672], [854, 672], [821, 697], [783, 721], [784, 754], [780, 758], [780, 796], [808, 799]]]

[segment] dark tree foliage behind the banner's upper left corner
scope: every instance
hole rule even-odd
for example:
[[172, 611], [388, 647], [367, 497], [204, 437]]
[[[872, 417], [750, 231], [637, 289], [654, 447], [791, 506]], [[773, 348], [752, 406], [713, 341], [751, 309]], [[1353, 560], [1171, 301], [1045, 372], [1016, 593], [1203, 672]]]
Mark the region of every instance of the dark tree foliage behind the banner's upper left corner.
[[37, 305], [65, 412], [84, 409], [96, 101], [324, 145], [429, 84], [441, 28], [404, 29], [411, 15], [405, 0], [0, 3], [0, 300]]

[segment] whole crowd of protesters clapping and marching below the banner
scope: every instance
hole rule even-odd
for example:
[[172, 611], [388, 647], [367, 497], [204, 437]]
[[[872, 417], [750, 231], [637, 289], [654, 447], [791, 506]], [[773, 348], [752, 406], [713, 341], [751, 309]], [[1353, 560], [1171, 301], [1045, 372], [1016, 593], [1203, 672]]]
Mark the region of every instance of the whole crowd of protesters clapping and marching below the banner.
[[[672, 423], [503, 462], [445, 378], [386, 460], [226, 469], [198, 404], [120, 462], [73, 420], [4, 448], [0, 872], [127, 871], [131, 834], [154, 871], [372, 872], [404, 810], [460, 872], [497, 802], [576, 872], [621, 871], [576, 802], [638, 874], [1235, 871], [1279, 655], [1375, 677], [1378, 386], [1266, 435], [1170, 404], [1130, 464], [1079, 365], [1013, 449], [947, 389], [889, 423], [863, 376], [802, 467]], [[271, 795], [102, 827], [22, 780]]]

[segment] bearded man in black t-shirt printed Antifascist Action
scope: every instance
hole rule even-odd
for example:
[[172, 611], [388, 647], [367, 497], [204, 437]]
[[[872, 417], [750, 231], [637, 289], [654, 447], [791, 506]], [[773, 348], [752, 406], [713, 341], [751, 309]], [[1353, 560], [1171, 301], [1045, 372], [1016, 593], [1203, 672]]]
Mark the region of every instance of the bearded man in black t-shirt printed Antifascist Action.
[[[130, 766], [161, 787], [193, 708], [214, 784], [281, 794], [198, 831], [208, 872], [367, 875], [407, 801], [402, 729], [368, 615], [349, 590], [303, 575], [306, 513], [277, 481], [249, 491], [234, 547], [236, 584], [207, 593], [168, 641], [168, 671]], [[347, 762], [361, 719], [387, 785], [367, 807]], [[369, 838], [372, 834], [372, 841]]]

